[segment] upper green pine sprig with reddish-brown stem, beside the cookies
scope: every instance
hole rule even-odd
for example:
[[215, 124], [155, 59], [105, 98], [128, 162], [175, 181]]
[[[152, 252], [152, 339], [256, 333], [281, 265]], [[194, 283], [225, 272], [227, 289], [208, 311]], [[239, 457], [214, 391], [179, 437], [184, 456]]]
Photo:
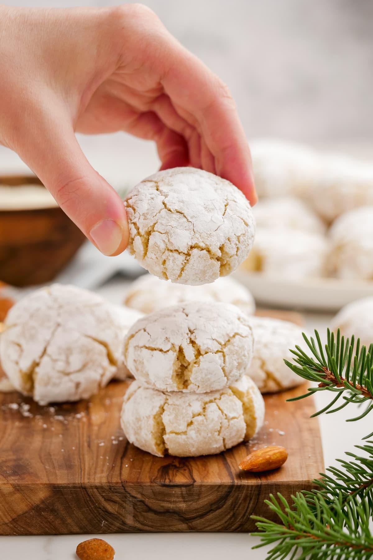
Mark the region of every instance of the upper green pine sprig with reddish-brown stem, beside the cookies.
[[[344, 339], [339, 330], [334, 337], [334, 333], [330, 333], [329, 329], [327, 343], [324, 346], [317, 330], [315, 330], [315, 339], [308, 338], [304, 333], [303, 338], [311, 355], [309, 356], [300, 346], [296, 346], [295, 350], [291, 350], [294, 354], [294, 362], [285, 360], [285, 363], [297, 375], [317, 383], [317, 386], [312, 386], [304, 395], [289, 400], [304, 399], [317, 391], [328, 390], [336, 394], [326, 407], [313, 416], [319, 416], [324, 412], [327, 414], [337, 412], [350, 403], [358, 405], [366, 403], [366, 407], [359, 416], [350, 418], [348, 422], [366, 416], [373, 409], [373, 344], [368, 349], [365, 346], [360, 347], [360, 339], [357, 339], [356, 343], [354, 337], [351, 337], [351, 340]], [[343, 403], [332, 408], [341, 397]], [[373, 432], [366, 437], [372, 435]]]

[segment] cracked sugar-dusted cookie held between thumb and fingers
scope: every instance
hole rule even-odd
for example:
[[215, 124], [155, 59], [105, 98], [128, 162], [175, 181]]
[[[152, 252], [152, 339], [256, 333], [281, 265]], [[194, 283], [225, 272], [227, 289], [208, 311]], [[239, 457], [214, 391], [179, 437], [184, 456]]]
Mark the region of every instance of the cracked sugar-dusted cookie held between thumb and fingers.
[[213, 282], [233, 272], [253, 244], [248, 200], [207, 171], [159, 171], [131, 190], [125, 207], [129, 252], [165, 280], [192, 286]]

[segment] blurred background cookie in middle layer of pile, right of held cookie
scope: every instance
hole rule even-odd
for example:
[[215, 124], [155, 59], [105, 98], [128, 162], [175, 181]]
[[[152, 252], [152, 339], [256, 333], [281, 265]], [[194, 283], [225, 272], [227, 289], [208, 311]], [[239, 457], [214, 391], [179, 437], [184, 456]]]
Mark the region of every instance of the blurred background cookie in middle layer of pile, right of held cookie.
[[254, 206], [253, 213], [258, 228], [325, 232], [323, 221], [299, 198], [265, 198]]

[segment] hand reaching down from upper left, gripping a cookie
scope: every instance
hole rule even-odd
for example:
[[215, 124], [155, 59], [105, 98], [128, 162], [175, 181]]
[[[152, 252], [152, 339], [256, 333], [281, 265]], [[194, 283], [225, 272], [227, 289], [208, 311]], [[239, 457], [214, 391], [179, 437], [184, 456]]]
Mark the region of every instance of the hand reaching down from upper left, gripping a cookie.
[[16, 151], [105, 255], [126, 248], [114, 189], [75, 131], [154, 140], [162, 169], [192, 165], [255, 202], [251, 159], [228, 88], [141, 4], [0, 7], [0, 143]]

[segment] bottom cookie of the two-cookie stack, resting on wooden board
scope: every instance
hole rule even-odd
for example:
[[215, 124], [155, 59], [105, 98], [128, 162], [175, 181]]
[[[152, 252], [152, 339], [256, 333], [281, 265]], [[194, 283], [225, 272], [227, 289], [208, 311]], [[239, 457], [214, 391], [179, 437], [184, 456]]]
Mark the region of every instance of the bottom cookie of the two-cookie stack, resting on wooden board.
[[195, 457], [252, 437], [263, 424], [264, 410], [262, 395], [248, 377], [238, 389], [201, 394], [165, 393], [134, 381], [124, 397], [121, 427], [130, 443], [153, 455]]

